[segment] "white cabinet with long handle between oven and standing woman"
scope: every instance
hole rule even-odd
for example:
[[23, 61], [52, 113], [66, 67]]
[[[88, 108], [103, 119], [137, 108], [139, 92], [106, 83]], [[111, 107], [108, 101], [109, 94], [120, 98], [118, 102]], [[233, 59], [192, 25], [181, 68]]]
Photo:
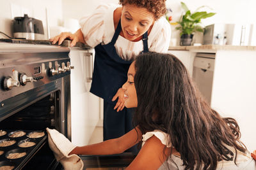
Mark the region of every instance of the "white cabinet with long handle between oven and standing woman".
[[74, 145], [88, 145], [100, 117], [100, 98], [90, 93], [94, 50], [71, 48], [71, 140]]

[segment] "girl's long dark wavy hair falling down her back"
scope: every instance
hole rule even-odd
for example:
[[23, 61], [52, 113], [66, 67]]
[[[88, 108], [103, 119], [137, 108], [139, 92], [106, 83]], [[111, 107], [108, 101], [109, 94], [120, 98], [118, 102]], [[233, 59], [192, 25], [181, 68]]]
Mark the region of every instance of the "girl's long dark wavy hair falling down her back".
[[236, 163], [237, 151], [248, 152], [236, 120], [211, 109], [174, 55], [143, 53], [135, 69], [134, 122], [143, 134], [155, 129], [169, 134], [185, 169], [216, 169], [218, 161]]

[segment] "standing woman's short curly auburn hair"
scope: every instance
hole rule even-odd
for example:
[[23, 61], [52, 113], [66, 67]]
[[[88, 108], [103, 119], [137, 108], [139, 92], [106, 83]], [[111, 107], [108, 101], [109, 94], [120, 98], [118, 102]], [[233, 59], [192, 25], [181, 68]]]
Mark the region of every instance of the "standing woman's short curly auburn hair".
[[119, 3], [124, 6], [125, 4], [133, 4], [141, 8], [146, 8], [154, 14], [156, 20], [162, 17], [166, 12], [166, 0], [119, 0]]

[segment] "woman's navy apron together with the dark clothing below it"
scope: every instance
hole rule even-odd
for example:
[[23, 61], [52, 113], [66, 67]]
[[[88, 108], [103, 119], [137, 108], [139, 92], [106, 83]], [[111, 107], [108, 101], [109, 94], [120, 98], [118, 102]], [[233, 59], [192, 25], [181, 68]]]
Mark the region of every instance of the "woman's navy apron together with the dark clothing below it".
[[[123, 60], [116, 53], [115, 43], [120, 31], [121, 22], [118, 22], [115, 34], [107, 45], [101, 43], [95, 46], [95, 60], [90, 92], [104, 99], [104, 141], [118, 138], [133, 129], [132, 116], [134, 109], [127, 109], [116, 112], [115, 104], [112, 101], [117, 90], [127, 81], [127, 72], [132, 60]], [[148, 32], [143, 34], [143, 52], [148, 52]], [[134, 152], [136, 148], [132, 149]], [[136, 152], [136, 151], [135, 151]]]

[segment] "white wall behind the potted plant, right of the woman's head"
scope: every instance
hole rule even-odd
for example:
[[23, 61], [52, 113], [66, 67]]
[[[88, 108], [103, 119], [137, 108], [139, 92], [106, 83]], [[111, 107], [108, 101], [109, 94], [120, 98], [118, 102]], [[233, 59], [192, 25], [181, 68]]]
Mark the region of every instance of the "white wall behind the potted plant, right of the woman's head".
[[[256, 24], [255, 18], [255, 0], [183, 0], [191, 12], [195, 11], [200, 6], [209, 6], [210, 8], [202, 8], [200, 11], [214, 12], [216, 15], [202, 20], [204, 26], [210, 24]], [[172, 9], [173, 22], [180, 19], [183, 9], [178, 0], [167, 0], [166, 6]], [[203, 34], [197, 32], [193, 41], [202, 43]], [[172, 39], [177, 39], [179, 42], [179, 31], [175, 30], [172, 25]], [[176, 44], [177, 45], [177, 44]]]

